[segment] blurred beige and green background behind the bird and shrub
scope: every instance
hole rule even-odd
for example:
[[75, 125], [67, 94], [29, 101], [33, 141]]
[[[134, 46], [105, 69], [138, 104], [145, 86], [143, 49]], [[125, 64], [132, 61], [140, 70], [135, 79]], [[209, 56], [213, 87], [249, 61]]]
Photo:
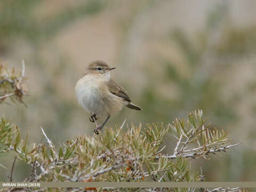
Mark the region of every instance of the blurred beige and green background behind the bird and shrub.
[[[242, 145], [223, 156], [192, 160], [206, 181], [256, 178], [256, 1], [1, 0], [0, 60], [21, 69], [29, 96], [3, 104], [1, 116], [17, 123], [23, 138], [41, 142], [42, 126], [61, 145], [94, 124], [78, 106], [75, 84], [93, 60], [112, 72], [132, 101], [107, 127], [172, 122], [202, 109], [212, 127]], [[107, 129], [105, 127], [105, 129]], [[165, 153], [173, 153], [167, 143]], [[1, 156], [10, 169], [13, 156]], [[18, 162], [14, 181], [29, 174]], [[0, 180], [9, 171], [0, 167]]]

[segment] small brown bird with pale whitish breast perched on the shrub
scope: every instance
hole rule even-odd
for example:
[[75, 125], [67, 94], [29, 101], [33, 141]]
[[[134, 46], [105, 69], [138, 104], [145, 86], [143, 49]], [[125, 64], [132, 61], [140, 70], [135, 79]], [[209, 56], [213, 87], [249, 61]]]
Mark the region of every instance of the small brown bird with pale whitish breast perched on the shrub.
[[[142, 110], [135, 106], [123, 87], [119, 86], [110, 75], [116, 67], [109, 67], [104, 61], [92, 61], [85, 73], [76, 83], [75, 92], [79, 105], [91, 114], [90, 121], [96, 124], [94, 133], [99, 134], [111, 115], [118, 113], [124, 106]], [[98, 125], [97, 119], [106, 116], [106, 121]]]

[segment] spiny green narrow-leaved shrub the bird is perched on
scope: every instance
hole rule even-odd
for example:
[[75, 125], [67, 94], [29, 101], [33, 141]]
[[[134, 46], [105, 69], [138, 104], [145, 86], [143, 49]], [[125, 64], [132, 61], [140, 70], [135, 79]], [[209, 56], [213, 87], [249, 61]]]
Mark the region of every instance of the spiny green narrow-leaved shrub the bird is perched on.
[[[202, 181], [202, 172], [201, 175], [191, 173], [189, 158], [215, 155], [239, 143], [231, 145], [225, 132], [207, 130], [207, 127], [202, 129], [203, 120], [199, 115], [202, 115], [201, 111], [190, 115], [190, 121], [179, 121], [182, 126], [177, 123], [173, 127], [153, 124], [141, 131], [139, 125], [123, 133], [124, 121], [121, 127], [107, 129], [100, 137], [82, 135], [67, 141], [67, 145], [59, 150], [41, 127], [45, 144], [32, 143], [25, 147], [17, 136], [4, 151], [14, 150], [19, 159], [32, 167], [27, 179], [31, 182], [142, 181], [146, 177], [155, 182]], [[161, 145], [168, 133], [175, 138], [172, 155], [162, 154], [164, 147]], [[165, 191], [162, 188], [148, 190]]]

